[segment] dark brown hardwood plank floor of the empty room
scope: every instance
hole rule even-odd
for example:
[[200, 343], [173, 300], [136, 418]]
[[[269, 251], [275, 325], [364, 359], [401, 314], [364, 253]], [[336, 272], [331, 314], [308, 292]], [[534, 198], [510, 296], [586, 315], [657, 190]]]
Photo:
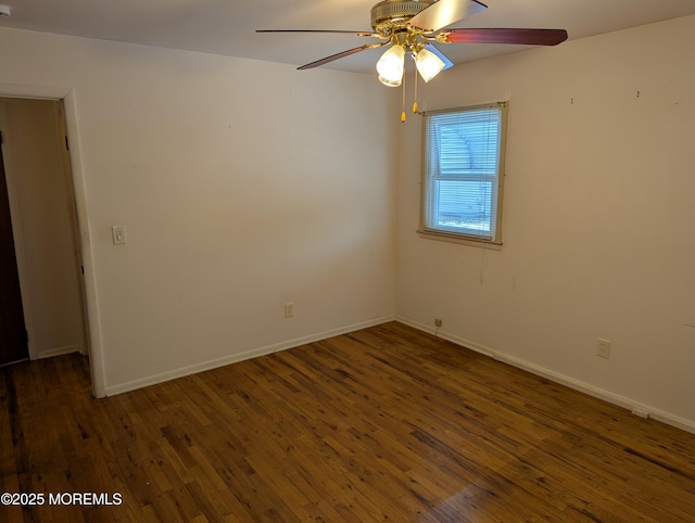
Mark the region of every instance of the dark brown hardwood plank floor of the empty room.
[[395, 322], [105, 399], [3, 368], [0, 467], [3, 522], [695, 521], [695, 434]]

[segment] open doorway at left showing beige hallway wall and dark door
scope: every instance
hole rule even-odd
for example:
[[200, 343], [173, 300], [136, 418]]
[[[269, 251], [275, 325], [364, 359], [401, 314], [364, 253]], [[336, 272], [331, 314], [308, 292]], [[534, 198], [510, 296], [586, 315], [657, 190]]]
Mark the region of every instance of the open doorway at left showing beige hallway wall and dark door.
[[[20, 297], [0, 309], [3, 331], [28, 343], [8, 342], [2, 362], [79, 352], [88, 354], [87, 321], [68, 142], [60, 100], [0, 98], [5, 227], [0, 238], [16, 275], [3, 269], [3, 294]], [[0, 201], [0, 216], [2, 202]], [[2, 218], [2, 222], [5, 219]], [[10, 346], [15, 353], [12, 353]], [[21, 353], [20, 353], [21, 352]], [[18, 357], [17, 357], [18, 356]], [[4, 360], [7, 359], [7, 361]]]

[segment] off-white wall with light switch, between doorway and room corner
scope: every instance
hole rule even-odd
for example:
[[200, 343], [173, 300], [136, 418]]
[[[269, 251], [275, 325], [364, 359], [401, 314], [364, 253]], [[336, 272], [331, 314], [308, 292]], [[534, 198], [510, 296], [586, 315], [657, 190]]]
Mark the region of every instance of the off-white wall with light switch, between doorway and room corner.
[[0, 84], [71, 89], [106, 393], [393, 317], [374, 78], [0, 29]]

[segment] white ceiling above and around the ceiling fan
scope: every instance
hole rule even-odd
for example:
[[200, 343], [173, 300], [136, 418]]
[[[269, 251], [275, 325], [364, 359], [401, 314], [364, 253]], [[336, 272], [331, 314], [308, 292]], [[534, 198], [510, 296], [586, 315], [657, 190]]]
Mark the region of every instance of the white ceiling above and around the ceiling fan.
[[[453, 27], [567, 29], [578, 39], [695, 14], [695, 0], [482, 0], [488, 11]], [[0, 0], [0, 26], [303, 65], [375, 41], [353, 35], [255, 34], [255, 29], [371, 30], [376, 0]], [[440, 46], [454, 63], [526, 49]], [[378, 49], [327, 68], [371, 72]]]

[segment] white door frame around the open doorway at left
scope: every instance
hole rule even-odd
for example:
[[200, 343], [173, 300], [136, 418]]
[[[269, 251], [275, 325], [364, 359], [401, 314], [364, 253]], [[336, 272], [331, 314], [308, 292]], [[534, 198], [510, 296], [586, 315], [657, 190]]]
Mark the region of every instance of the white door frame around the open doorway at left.
[[[94, 397], [104, 397], [106, 395], [106, 387], [103, 366], [101, 329], [99, 321], [99, 306], [97, 303], [97, 281], [93, 270], [93, 253], [91, 248], [89, 232], [89, 213], [87, 212], [87, 192], [85, 187], [84, 167], [80, 153], [75, 91], [70, 88], [61, 87], [16, 86], [0, 84], [0, 97], [58, 100], [63, 104], [65, 132], [68, 137], [70, 142], [70, 150], [67, 151], [67, 154], [70, 156], [71, 163], [71, 180], [77, 213], [77, 232], [79, 234], [79, 250], [84, 270], [83, 294], [87, 322], [87, 353], [89, 354], [91, 386]], [[20, 268], [20, 270], [23, 271], [24, 269]], [[22, 272], [20, 273], [20, 281], [22, 281]], [[30, 327], [29, 321], [30, 319], [25, 315], [27, 330]], [[30, 345], [29, 354], [31, 354]]]

